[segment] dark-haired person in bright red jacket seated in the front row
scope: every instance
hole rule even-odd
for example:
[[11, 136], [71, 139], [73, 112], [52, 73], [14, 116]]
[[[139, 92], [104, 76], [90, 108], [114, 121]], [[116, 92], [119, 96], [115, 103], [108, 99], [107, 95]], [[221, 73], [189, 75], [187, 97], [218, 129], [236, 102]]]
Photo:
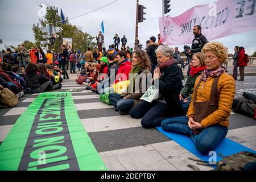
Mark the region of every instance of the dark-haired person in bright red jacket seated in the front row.
[[117, 61], [119, 64], [119, 69], [117, 76], [115, 77], [115, 84], [119, 81], [129, 80], [129, 73], [131, 71], [131, 62], [127, 60], [126, 52], [119, 51], [117, 53]]

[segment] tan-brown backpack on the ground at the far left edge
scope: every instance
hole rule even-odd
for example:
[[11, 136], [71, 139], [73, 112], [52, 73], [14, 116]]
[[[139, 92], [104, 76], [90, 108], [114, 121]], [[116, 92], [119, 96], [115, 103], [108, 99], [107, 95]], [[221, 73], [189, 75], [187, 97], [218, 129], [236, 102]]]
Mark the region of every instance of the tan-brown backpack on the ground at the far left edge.
[[14, 107], [18, 104], [19, 100], [11, 90], [2, 88], [0, 89], [0, 102], [3, 105]]

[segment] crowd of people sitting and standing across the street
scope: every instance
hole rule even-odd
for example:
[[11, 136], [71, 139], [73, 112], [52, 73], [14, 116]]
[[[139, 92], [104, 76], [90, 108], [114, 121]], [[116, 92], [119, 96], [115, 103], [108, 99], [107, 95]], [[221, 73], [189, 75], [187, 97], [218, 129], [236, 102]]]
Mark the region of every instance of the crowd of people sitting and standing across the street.
[[[237, 67], [243, 80], [247, 63], [244, 48], [236, 46], [234, 75], [228, 75], [222, 66], [228, 59], [228, 49], [220, 42], [208, 42], [200, 26], [193, 28], [193, 34], [195, 39], [187, 50], [191, 61], [184, 86], [184, 62], [179, 49], [163, 45], [160, 35], [158, 42], [154, 36], [147, 41], [146, 51], [126, 47], [125, 36], [119, 50], [120, 40], [115, 35], [115, 44], [107, 50], [101, 32], [97, 49], [76, 52], [63, 45], [55, 59], [50, 51], [45, 55], [40, 47], [27, 52], [20, 46], [15, 56], [7, 49], [0, 63], [0, 86], [20, 98], [27, 93], [59, 89], [62, 77], [69, 79], [68, 67], [71, 73], [78, 69], [77, 83], [105, 94], [119, 114], [141, 119], [146, 129], [162, 126], [166, 131], [187, 135], [199, 151], [208, 154], [228, 132]], [[125, 89], [117, 92], [115, 85], [121, 83], [126, 83]], [[158, 89], [157, 97], [151, 102], [142, 100], [151, 85]]]

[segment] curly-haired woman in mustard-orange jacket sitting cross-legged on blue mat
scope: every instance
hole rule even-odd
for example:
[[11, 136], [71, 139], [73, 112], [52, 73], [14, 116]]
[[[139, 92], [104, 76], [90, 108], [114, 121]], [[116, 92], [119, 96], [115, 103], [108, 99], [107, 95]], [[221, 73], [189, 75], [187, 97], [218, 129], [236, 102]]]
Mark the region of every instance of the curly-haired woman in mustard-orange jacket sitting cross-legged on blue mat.
[[196, 148], [208, 155], [228, 133], [235, 82], [221, 67], [228, 58], [228, 50], [223, 44], [210, 42], [202, 51], [207, 69], [196, 79], [187, 117], [166, 119], [162, 127], [188, 135]]

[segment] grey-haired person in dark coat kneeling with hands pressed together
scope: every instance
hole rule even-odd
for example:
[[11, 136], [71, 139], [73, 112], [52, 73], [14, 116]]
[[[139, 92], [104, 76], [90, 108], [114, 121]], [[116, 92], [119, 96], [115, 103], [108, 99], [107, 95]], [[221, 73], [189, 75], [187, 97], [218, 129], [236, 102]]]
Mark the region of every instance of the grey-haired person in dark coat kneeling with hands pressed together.
[[182, 72], [172, 58], [174, 49], [159, 46], [155, 52], [159, 67], [155, 69], [151, 81], [156, 88], [159, 88], [159, 97], [151, 103], [143, 101], [130, 110], [132, 118], [142, 118], [141, 124], [145, 128], [161, 126], [164, 119], [186, 114], [179, 100]]

